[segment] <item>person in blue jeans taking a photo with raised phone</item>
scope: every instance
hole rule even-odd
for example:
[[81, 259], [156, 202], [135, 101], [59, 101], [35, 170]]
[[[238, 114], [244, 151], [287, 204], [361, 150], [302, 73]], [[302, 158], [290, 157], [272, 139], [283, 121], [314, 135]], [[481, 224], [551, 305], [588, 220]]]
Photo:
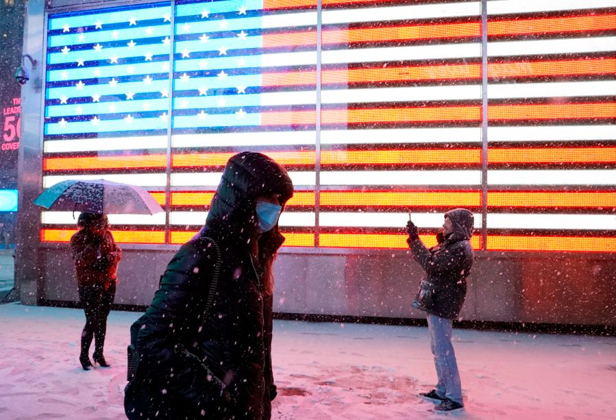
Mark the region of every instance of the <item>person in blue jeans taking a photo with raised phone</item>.
[[419, 284], [419, 291], [412, 306], [428, 312], [430, 349], [439, 382], [436, 388], [422, 397], [439, 404], [436, 412], [451, 412], [463, 408], [462, 385], [458, 363], [452, 346], [452, 320], [458, 317], [467, 291], [466, 278], [473, 265], [473, 213], [456, 208], [445, 213], [443, 230], [436, 235], [439, 245], [426, 248], [419, 238], [419, 231], [408, 221], [407, 243], [410, 251], [426, 276]]

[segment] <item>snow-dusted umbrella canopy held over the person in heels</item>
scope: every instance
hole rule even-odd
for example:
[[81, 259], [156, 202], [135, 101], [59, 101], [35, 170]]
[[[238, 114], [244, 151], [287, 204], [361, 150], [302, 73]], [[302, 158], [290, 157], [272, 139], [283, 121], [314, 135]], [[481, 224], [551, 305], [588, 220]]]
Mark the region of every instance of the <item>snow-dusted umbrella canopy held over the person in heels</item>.
[[106, 214], [155, 214], [162, 207], [140, 186], [106, 180], [66, 180], [47, 188], [34, 203], [48, 210]]

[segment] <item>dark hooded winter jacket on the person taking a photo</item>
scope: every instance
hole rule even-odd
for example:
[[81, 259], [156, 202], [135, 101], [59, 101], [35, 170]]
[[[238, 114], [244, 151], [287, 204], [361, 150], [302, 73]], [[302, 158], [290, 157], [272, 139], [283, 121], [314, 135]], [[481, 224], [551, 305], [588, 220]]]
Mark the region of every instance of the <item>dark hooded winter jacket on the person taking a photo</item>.
[[[473, 265], [473, 214], [465, 208], [445, 213], [454, 232], [427, 249], [419, 238], [408, 245], [415, 260], [426, 270], [412, 306], [439, 317], [454, 319], [460, 314], [467, 291], [466, 278]], [[441, 242], [442, 240], [442, 242]]]

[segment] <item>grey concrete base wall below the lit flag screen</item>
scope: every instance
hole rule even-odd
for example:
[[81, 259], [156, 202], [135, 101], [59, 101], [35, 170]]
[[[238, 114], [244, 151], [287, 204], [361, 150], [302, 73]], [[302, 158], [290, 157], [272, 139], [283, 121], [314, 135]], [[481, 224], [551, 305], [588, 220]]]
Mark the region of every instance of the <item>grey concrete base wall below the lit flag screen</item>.
[[[77, 301], [68, 247], [41, 248], [40, 299]], [[149, 305], [173, 251], [125, 249], [116, 304]], [[423, 272], [404, 251], [289, 254], [275, 262], [276, 312], [423, 318], [410, 305]], [[479, 255], [460, 318], [616, 325], [616, 260]]]

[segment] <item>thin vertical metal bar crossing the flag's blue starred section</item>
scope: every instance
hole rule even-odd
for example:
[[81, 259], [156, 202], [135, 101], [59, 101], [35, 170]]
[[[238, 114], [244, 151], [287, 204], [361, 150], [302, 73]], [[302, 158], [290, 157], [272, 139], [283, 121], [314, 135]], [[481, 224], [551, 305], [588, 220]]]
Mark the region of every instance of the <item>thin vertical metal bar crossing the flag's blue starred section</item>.
[[173, 138], [173, 72], [175, 69], [175, 1], [171, 1], [171, 36], [169, 45], [169, 101], [167, 101], [167, 184], [164, 187], [164, 243], [171, 243], [171, 141]]

